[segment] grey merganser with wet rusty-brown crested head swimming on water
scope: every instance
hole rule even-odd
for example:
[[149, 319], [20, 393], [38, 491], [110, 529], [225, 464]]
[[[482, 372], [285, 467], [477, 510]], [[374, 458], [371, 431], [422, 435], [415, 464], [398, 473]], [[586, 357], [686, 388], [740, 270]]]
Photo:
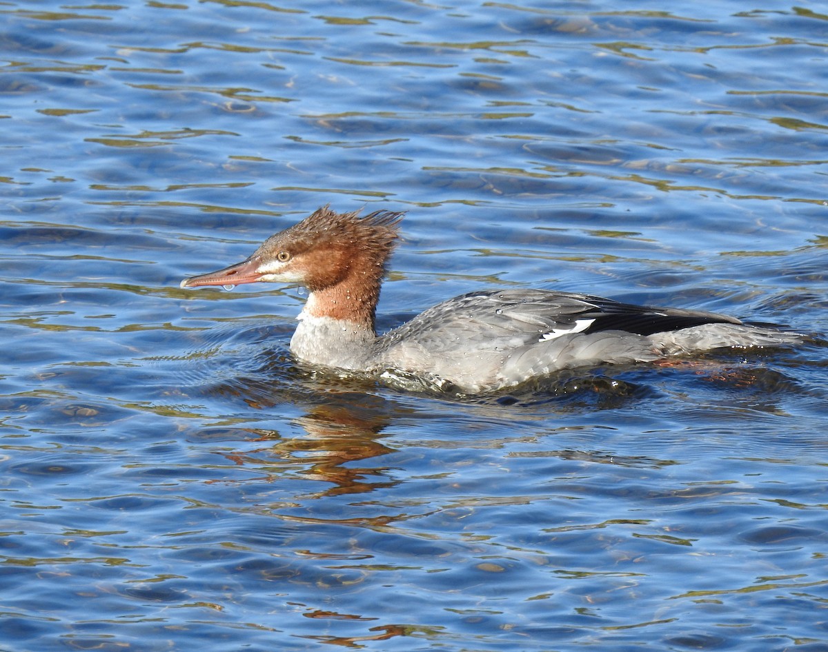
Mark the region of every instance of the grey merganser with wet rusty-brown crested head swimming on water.
[[723, 314], [507, 288], [444, 301], [378, 336], [374, 319], [403, 213], [325, 206], [268, 237], [253, 256], [182, 288], [265, 281], [309, 292], [291, 352], [313, 365], [479, 393], [566, 368], [652, 362], [715, 348], [781, 346], [802, 336]]

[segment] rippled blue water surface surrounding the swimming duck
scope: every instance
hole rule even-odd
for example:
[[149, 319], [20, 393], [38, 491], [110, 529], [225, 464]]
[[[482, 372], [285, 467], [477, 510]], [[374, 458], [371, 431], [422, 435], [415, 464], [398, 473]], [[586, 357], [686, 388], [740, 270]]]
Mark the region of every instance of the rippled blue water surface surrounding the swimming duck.
[[[0, 3], [0, 648], [828, 649], [828, 12], [666, 6]], [[321, 204], [408, 212], [382, 328], [534, 285], [813, 337], [338, 381], [301, 291], [178, 287]]]

